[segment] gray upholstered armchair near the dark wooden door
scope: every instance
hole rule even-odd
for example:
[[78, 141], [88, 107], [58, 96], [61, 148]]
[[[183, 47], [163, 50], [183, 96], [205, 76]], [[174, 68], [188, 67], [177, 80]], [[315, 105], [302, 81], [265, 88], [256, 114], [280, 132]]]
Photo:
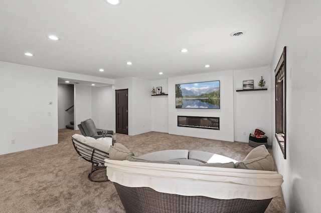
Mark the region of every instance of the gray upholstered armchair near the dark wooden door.
[[[114, 134], [113, 130], [97, 129], [91, 118], [81, 121], [80, 124], [78, 124], [78, 127], [82, 135], [94, 137], [96, 139], [103, 136], [112, 137], [112, 134]], [[106, 134], [103, 135], [103, 133]]]

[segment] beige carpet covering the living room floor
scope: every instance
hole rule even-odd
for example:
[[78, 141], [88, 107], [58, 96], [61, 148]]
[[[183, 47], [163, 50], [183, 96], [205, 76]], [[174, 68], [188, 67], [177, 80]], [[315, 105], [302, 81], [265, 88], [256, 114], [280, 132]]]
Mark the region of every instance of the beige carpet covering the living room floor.
[[[80, 132], [60, 129], [56, 145], [0, 155], [1, 212], [124, 212], [112, 182], [88, 180], [91, 164], [75, 151], [70, 139], [74, 133]], [[117, 142], [135, 155], [164, 149], [195, 149], [236, 160], [242, 160], [253, 148], [247, 143], [161, 132], [117, 134]], [[282, 195], [272, 199], [266, 212], [285, 212]]]

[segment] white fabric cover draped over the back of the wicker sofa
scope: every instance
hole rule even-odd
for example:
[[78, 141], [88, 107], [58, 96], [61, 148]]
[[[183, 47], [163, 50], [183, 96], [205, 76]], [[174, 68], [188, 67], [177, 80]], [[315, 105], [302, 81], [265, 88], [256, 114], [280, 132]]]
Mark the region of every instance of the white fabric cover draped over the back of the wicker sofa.
[[219, 199], [267, 199], [281, 192], [276, 171], [105, 159], [107, 176], [128, 187]]

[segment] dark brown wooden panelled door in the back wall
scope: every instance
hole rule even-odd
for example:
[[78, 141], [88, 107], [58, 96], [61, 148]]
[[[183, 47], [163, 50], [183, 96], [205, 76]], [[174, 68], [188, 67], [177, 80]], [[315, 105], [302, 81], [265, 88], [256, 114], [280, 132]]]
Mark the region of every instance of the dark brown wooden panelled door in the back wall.
[[116, 133], [128, 134], [128, 89], [116, 90]]

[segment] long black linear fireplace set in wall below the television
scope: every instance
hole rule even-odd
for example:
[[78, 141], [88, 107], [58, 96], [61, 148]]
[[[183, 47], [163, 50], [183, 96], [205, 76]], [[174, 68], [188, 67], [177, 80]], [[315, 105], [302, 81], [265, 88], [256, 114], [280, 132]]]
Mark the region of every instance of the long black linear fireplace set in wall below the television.
[[194, 128], [220, 129], [219, 117], [177, 116], [177, 125]]

